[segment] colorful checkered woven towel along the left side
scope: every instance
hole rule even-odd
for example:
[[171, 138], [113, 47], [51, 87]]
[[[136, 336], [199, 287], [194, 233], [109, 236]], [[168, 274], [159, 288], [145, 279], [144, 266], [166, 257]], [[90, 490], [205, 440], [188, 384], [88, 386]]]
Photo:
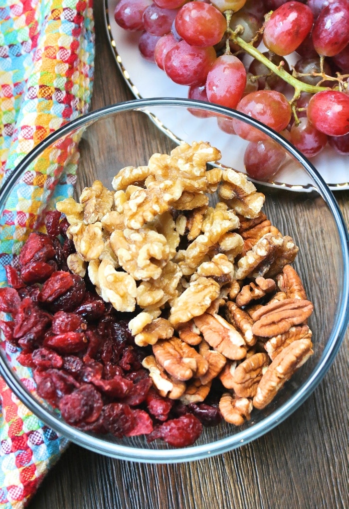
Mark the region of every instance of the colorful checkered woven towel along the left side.
[[[48, 134], [87, 111], [93, 57], [92, 0], [0, 0], [0, 182]], [[28, 169], [8, 201], [0, 285], [4, 265], [36, 224], [38, 204], [71, 193], [76, 143], [67, 139], [54, 152]], [[6, 345], [6, 354], [34, 390], [17, 349]], [[0, 509], [24, 507], [65, 445], [0, 377]]]

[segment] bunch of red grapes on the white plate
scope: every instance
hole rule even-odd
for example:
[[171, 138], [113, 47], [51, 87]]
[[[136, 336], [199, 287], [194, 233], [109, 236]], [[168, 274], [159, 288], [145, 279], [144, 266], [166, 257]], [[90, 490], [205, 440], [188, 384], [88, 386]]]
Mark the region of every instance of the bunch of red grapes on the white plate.
[[[189, 98], [244, 112], [309, 158], [327, 144], [349, 154], [348, 0], [120, 0], [115, 20], [142, 31], [144, 58], [188, 86]], [[290, 69], [283, 57], [294, 51]], [[251, 177], [275, 175], [281, 147], [238, 120], [219, 125], [249, 141]]]

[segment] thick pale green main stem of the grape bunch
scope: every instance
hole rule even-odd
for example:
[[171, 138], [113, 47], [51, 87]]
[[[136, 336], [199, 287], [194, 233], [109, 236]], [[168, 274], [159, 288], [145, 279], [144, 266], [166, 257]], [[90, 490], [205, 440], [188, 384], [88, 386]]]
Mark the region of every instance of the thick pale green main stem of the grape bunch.
[[320, 87], [318, 85], [310, 85], [309, 83], [304, 83], [300, 81], [296, 77], [289, 74], [282, 66], [277, 66], [273, 64], [269, 59], [266, 58], [257, 48], [252, 46], [252, 44], [245, 42], [244, 39], [241, 39], [236, 33], [232, 33], [230, 35], [230, 39], [234, 41], [235, 44], [238, 44], [241, 49], [249, 53], [249, 55], [253, 56], [256, 60], [265, 65], [268, 69], [273, 71], [275, 74], [280, 76], [284, 81], [289, 83], [291, 87], [294, 88], [294, 96], [293, 98], [299, 97], [301, 92], [309, 92], [310, 94], [316, 94], [316, 92], [322, 92], [323, 90], [331, 90], [329, 87]]

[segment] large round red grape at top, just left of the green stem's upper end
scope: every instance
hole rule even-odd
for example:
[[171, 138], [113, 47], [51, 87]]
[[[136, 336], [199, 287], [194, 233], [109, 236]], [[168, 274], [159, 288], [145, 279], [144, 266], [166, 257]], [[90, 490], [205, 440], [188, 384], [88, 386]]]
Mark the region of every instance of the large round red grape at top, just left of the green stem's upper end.
[[178, 11], [175, 28], [188, 44], [207, 47], [221, 41], [227, 21], [216, 7], [203, 2], [190, 2]]

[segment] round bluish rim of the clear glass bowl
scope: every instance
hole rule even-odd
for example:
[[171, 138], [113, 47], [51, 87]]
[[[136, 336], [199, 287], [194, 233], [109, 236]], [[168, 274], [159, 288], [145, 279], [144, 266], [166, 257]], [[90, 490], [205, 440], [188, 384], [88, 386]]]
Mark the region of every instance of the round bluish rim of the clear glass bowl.
[[[256, 127], [262, 132], [268, 134], [277, 143], [281, 144], [291, 155], [293, 155], [310, 174], [315, 182], [318, 192], [327, 203], [331, 213], [334, 216], [336, 226], [338, 229], [339, 238], [341, 241], [341, 252], [343, 258], [343, 289], [341, 292], [341, 299], [339, 305], [338, 317], [336, 317], [334, 327], [328, 339], [326, 347], [321, 355], [321, 358], [316, 366], [316, 369], [311, 373], [311, 376], [302, 384], [302, 386], [292, 395], [292, 397], [284, 403], [280, 408], [275, 410], [271, 415], [265, 417], [262, 421], [256, 423], [247, 430], [240, 431], [232, 436], [219, 439], [215, 442], [203, 445], [193, 445], [191, 447], [178, 448], [178, 449], [142, 449], [137, 447], [129, 447], [121, 444], [107, 442], [102, 438], [84, 433], [76, 428], [67, 425], [65, 422], [56, 419], [49, 413], [38, 400], [21, 384], [17, 375], [11, 370], [4, 351], [0, 349], [0, 375], [3, 376], [8, 386], [16, 394], [19, 400], [28, 407], [39, 419], [41, 419], [47, 426], [54, 429], [59, 434], [74, 443], [81, 445], [85, 448], [93, 450], [96, 453], [121, 459], [127, 461], [136, 461], [140, 463], [178, 463], [185, 461], [199, 460], [210, 456], [225, 453], [228, 450], [235, 449], [243, 444], [247, 444], [252, 440], [262, 436], [263, 434], [271, 431], [284, 419], [286, 419], [294, 410], [296, 410], [302, 403], [309, 397], [313, 390], [317, 387], [320, 381], [324, 378], [329, 370], [338, 350], [343, 341], [344, 334], [349, 321], [349, 260], [348, 260], [348, 246], [349, 236], [345, 226], [344, 219], [338, 204], [328, 188], [323, 178], [316, 171], [315, 167], [288, 141], [279, 135], [276, 131], [264, 126], [257, 120], [244, 115], [238, 111], [217, 106], [202, 101], [178, 98], [152, 98], [152, 99], [133, 99], [123, 103], [112, 104], [100, 109], [91, 111], [84, 116], [78, 117], [75, 120], [65, 124], [55, 132], [47, 136], [43, 142], [35, 147], [28, 155], [26, 155], [18, 166], [14, 169], [9, 178], [4, 182], [0, 190], [0, 211], [6, 202], [13, 185], [16, 183], [18, 177], [23, 170], [33, 162], [36, 157], [53, 142], [61, 136], [68, 134], [73, 129], [84, 127], [90, 123], [94, 123], [103, 117], [108, 117], [120, 111], [141, 110], [146, 111], [151, 106], [184, 106], [195, 107], [199, 109], [206, 109], [213, 113], [226, 115], [235, 119], [244, 121]], [[152, 116], [152, 115], [150, 115]]]

